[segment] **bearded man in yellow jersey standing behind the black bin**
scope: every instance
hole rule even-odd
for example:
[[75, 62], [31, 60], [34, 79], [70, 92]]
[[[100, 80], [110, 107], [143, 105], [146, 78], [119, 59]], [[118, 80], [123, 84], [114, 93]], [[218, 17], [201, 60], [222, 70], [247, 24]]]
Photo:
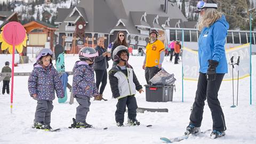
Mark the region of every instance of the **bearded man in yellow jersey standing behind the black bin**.
[[157, 30], [151, 30], [149, 43], [146, 46], [146, 55], [142, 68], [145, 69], [147, 84], [150, 84], [149, 80], [162, 69], [164, 61], [164, 44], [157, 39], [157, 35]]

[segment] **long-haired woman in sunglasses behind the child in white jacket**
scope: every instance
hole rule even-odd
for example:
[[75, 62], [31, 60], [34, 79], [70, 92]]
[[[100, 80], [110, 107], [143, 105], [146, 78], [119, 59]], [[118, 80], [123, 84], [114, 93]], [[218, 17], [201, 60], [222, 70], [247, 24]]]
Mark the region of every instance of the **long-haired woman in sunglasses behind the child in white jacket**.
[[127, 43], [126, 43], [126, 37], [125, 37], [125, 34], [124, 34], [124, 31], [119, 31], [117, 33], [117, 36], [116, 36], [116, 39], [114, 41], [114, 44], [112, 46], [112, 49], [111, 49], [111, 59], [113, 60], [113, 66], [116, 65], [117, 63], [114, 61], [113, 59], [113, 51], [116, 49], [117, 46], [119, 45], [124, 45], [127, 47]]

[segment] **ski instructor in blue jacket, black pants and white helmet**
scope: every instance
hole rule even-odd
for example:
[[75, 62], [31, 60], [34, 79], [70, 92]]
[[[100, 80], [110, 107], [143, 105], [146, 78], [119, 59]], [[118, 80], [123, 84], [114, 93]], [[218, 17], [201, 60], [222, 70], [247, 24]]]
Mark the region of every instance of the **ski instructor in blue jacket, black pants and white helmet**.
[[198, 39], [199, 78], [197, 83], [196, 98], [190, 115], [190, 122], [185, 134], [200, 132], [203, 119], [204, 101], [207, 98], [212, 114], [211, 138], [225, 135], [226, 124], [218, 91], [228, 66], [225, 54], [225, 39], [229, 28], [225, 16], [217, 11], [217, 4], [212, 0], [199, 1], [198, 29], [201, 35]]

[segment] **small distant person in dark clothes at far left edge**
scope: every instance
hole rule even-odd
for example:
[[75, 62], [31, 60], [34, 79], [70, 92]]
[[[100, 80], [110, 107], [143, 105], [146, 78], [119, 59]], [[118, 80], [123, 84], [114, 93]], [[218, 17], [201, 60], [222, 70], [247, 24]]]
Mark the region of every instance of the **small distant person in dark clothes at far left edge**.
[[[2, 72], [1, 73], [12, 73], [12, 69], [9, 67], [10, 63], [9, 61], [5, 62], [5, 66], [2, 68]], [[2, 94], [5, 93], [5, 89], [6, 89], [6, 93], [9, 94], [10, 93], [10, 89], [9, 89], [9, 83], [10, 83], [10, 76], [6, 76], [3, 79], [3, 89], [2, 89]]]

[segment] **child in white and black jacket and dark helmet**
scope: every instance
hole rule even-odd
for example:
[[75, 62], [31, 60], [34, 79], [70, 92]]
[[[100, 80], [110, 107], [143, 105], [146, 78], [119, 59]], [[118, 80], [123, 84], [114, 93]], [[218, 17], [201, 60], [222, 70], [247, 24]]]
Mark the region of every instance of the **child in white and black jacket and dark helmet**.
[[128, 108], [128, 124], [140, 125], [136, 119], [138, 108], [136, 99], [134, 97], [136, 90], [143, 92], [133, 68], [128, 64], [129, 51], [127, 47], [117, 46], [113, 52], [114, 61], [118, 64], [113, 66], [109, 71], [109, 83], [113, 97], [118, 100], [116, 105], [116, 124], [123, 126], [124, 113], [127, 105]]

